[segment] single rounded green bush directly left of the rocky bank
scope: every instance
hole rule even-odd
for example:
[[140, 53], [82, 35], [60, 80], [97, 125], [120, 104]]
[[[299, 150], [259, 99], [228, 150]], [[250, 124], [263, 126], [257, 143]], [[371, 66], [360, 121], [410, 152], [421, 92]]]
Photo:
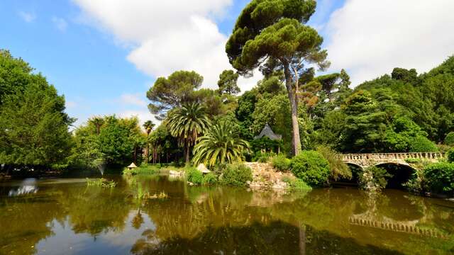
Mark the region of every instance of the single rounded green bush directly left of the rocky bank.
[[252, 170], [244, 164], [228, 164], [223, 169], [221, 184], [228, 186], [245, 186], [253, 180]]

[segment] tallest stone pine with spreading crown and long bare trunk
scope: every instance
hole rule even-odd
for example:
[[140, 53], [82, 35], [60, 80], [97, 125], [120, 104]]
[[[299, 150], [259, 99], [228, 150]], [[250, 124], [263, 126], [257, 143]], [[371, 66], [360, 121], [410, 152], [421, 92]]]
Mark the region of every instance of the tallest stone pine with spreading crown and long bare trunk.
[[298, 102], [299, 77], [309, 65], [326, 69], [327, 52], [323, 38], [304, 25], [314, 13], [314, 0], [253, 0], [240, 13], [226, 44], [228, 59], [239, 74], [283, 71], [292, 111], [292, 150], [301, 151]]

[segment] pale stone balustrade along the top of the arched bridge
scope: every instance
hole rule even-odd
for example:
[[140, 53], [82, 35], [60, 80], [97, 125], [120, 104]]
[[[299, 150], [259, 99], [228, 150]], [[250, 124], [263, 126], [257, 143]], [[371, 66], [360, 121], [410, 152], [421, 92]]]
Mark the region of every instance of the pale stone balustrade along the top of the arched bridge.
[[441, 152], [409, 152], [409, 153], [367, 153], [367, 154], [341, 154], [345, 164], [352, 164], [365, 169], [370, 166], [381, 164], [399, 164], [410, 166], [411, 159], [419, 159], [428, 162], [438, 162], [445, 157]]

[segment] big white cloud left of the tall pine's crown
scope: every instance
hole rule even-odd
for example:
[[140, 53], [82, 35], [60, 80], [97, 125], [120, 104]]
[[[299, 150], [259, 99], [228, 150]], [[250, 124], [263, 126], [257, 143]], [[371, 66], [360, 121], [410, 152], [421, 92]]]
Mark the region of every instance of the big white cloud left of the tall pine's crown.
[[133, 45], [128, 60], [151, 77], [194, 70], [204, 77], [204, 87], [216, 88], [219, 74], [232, 68], [225, 53], [228, 36], [215, 22], [232, 0], [73, 1], [92, 25]]

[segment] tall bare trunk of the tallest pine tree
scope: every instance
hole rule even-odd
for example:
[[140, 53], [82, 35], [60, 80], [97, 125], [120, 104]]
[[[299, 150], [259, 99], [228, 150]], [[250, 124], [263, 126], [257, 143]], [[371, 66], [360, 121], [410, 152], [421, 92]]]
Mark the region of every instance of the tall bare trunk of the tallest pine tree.
[[301, 152], [301, 139], [299, 137], [298, 124], [298, 102], [296, 91], [293, 89], [292, 74], [290, 73], [289, 64], [284, 64], [285, 86], [289, 96], [290, 108], [292, 110], [292, 152], [294, 155]]

